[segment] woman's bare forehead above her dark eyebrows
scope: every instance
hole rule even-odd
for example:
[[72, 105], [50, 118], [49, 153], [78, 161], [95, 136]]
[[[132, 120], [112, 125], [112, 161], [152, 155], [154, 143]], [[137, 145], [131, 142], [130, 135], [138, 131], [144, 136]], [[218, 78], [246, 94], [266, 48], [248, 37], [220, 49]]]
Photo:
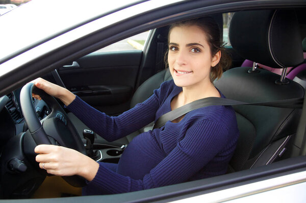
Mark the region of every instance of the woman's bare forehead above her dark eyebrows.
[[181, 43], [206, 43], [206, 33], [197, 25], [175, 26], [170, 30], [169, 42]]

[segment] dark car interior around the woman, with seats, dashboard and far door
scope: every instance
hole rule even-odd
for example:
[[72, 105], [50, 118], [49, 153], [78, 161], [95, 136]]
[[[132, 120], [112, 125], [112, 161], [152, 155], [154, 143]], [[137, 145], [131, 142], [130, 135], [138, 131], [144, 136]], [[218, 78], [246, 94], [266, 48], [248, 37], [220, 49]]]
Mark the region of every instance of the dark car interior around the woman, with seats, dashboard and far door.
[[[222, 16], [222, 13], [212, 15], [221, 32]], [[96, 109], [116, 116], [143, 102], [162, 82], [172, 79], [164, 65], [168, 29], [166, 25], [150, 31], [143, 50], [93, 52], [58, 67], [43, 78], [64, 86]], [[226, 49], [232, 57], [232, 67], [214, 81], [226, 98], [253, 103], [304, 97], [306, 20], [303, 9], [237, 11], [228, 35], [231, 46]], [[35, 162], [36, 144], [27, 133], [29, 126], [20, 107], [20, 89], [0, 101], [0, 110], [3, 108], [0, 112], [0, 186], [6, 183], [0, 187], [0, 197], [5, 199], [33, 197], [48, 177]], [[48, 102], [35, 99], [31, 102], [40, 120], [52, 112]], [[86, 153], [97, 161], [117, 163], [129, 142], [151, 130], [153, 125], [108, 142], [60, 105], [67, 113], [64, 117], [67, 116], [66, 120], [73, 124], [85, 144]], [[304, 126], [301, 108], [237, 105], [234, 109], [240, 137], [227, 173], [300, 155], [304, 140], [300, 130]], [[58, 140], [51, 139], [58, 144]]]

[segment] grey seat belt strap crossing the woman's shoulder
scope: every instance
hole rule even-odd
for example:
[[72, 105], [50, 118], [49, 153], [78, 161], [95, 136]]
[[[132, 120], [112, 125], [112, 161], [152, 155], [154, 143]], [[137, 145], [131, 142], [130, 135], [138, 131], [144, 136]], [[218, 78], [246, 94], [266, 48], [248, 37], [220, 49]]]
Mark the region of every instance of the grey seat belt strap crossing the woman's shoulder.
[[236, 101], [232, 99], [219, 98], [219, 97], [208, 97], [204, 99], [199, 99], [193, 101], [189, 104], [176, 108], [172, 111], [169, 111], [163, 114], [154, 124], [153, 129], [161, 128], [168, 121], [173, 121], [185, 115], [186, 113], [195, 110], [197, 108], [206, 107], [206, 106], [235, 106], [235, 105], [256, 105], [256, 106], [270, 106], [278, 108], [302, 108], [304, 98], [293, 98], [293, 99], [284, 99], [270, 102], [257, 102], [257, 103], [247, 103]]

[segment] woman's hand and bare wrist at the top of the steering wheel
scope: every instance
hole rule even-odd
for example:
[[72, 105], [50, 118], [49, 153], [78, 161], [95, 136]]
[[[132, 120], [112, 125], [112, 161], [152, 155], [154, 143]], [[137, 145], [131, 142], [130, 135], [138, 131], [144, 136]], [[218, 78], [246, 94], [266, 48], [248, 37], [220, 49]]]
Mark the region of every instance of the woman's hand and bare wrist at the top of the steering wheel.
[[[66, 106], [68, 106], [75, 99], [75, 95], [67, 89], [42, 78], [37, 78], [31, 82], [33, 82], [37, 88], [43, 90], [47, 94], [59, 98]], [[41, 100], [39, 95], [33, 93], [32, 97]]]

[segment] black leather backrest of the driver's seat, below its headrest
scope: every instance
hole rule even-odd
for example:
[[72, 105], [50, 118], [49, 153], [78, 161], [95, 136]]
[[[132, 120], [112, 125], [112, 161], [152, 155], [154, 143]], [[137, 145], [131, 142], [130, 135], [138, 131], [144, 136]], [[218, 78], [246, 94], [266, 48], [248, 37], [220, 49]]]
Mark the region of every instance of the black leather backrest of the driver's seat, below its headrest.
[[[226, 98], [248, 103], [304, 96], [303, 88], [294, 81], [288, 85], [276, 85], [274, 81], [279, 75], [267, 70], [250, 74], [248, 70], [245, 67], [228, 70], [215, 85]], [[267, 106], [241, 105], [234, 106], [234, 109], [240, 131], [238, 145], [230, 163], [235, 171], [251, 167], [269, 144], [294, 135], [301, 113], [300, 109]]]

